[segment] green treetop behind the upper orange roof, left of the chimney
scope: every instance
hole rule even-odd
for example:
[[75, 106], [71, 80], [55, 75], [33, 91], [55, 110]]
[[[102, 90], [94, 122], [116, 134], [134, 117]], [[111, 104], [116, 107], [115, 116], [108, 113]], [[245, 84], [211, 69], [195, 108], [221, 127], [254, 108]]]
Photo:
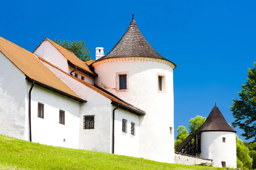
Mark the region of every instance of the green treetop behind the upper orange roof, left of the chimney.
[[91, 60], [89, 53], [92, 50], [88, 50], [84, 43], [84, 40], [71, 42], [69, 40], [54, 39], [54, 42], [58, 45], [61, 45], [63, 48], [66, 48], [67, 50], [73, 52], [76, 57], [84, 62]]

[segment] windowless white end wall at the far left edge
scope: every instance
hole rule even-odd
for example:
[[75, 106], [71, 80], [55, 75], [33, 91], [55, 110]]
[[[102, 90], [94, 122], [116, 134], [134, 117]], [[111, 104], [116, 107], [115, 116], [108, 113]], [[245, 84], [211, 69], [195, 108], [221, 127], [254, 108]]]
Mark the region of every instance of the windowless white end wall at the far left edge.
[[0, 52], [0, 134], [27, 139], [25, 75]]

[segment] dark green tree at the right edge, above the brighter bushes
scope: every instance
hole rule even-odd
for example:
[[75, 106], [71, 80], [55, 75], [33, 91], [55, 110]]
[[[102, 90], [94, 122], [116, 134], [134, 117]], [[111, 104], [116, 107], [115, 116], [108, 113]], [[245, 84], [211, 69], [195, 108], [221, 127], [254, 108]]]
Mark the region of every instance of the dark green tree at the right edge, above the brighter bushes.
[[253, 139], [256, 142], [256, 62], [254, 68], [248, 68], [247, 81], [238, 92], [240, 99], [233, 99], [230, 106], [235, 121], [234, 127], [239, 126], [244, 130], [242, 136], [245, 139]]

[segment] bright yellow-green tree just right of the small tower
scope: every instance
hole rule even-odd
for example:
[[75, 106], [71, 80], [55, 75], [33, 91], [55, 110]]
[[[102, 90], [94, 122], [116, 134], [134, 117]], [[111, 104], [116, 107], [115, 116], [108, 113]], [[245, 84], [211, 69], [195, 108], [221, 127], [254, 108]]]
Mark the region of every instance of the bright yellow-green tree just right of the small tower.
[[[250, 158], [249, 149], [244, 145], [243, 141], [236, 135], [236, 156], [237, 168], [249, 170], [252, 166], [253, 159]], [[240, 167], [242, 163], [243, 167]]]

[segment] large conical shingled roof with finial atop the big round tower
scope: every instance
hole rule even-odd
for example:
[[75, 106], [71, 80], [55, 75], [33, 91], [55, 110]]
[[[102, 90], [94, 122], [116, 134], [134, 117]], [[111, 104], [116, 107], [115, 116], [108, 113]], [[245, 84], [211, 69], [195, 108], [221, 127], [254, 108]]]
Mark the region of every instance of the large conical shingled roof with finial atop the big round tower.
[[154, 48], [148, 43], [143, 34], [141, 34], [134, 20], [134, 14], [128, 29], [122, 38], [116, 43], [108, 54], [96, 60], [96, 62], [102, 59], [117, 57], [153, 57], [169, 61], [158, 54], [157, 51], [155, 51]]

